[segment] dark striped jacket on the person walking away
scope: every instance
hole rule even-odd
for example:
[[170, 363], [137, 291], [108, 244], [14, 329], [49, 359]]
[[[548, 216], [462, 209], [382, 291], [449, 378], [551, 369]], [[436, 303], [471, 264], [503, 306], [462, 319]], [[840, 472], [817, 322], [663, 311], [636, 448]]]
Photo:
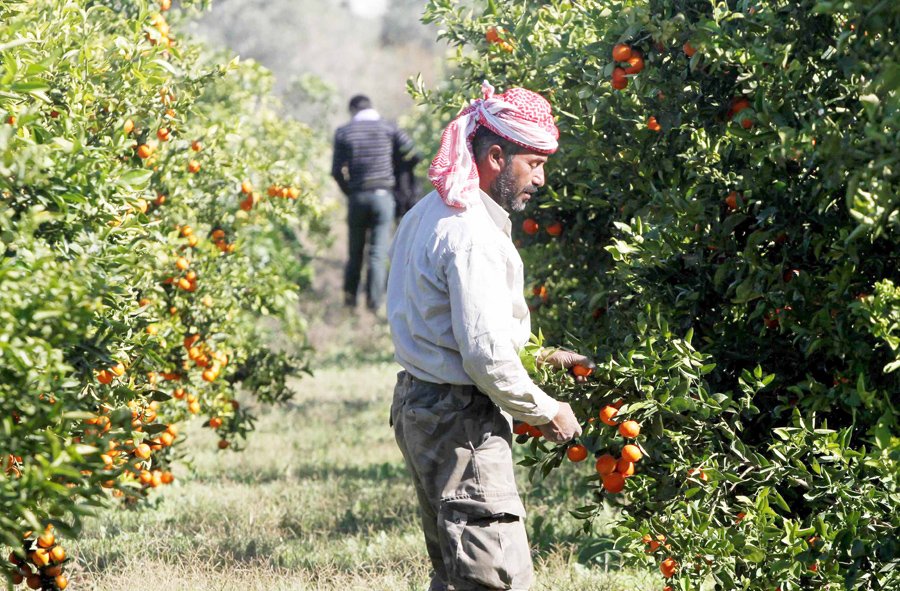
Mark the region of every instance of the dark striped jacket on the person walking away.
[[334, 134], [331, 176], [347, 195], [393, 190], [394, 155], [405, 158], [413, 149], [410, 137], [393, 123], [380, 118], [355, 118]]

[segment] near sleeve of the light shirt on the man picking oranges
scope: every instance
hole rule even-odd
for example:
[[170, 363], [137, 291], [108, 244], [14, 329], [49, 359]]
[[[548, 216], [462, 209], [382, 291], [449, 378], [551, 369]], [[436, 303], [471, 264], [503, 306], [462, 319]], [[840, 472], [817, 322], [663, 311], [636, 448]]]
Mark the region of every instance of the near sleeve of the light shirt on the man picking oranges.
[[448, 253], [444, 275], [453, 336], [479, 390], [513, 418], [543, 425], [556, 416], [559, 402], [534, 383], [519, 358], [504, 257], [490, 243]]

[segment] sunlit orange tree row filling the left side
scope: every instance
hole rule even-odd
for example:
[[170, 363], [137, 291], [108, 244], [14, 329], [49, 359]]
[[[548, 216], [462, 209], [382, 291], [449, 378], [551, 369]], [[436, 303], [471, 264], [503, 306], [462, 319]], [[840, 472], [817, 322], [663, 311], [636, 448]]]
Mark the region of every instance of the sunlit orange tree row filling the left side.
[[234, 447], [236, 391], [306, 368], [260, 320], [302, 339], [321, 140], [169, 8], [0, 2], [0, 570], [31, 588], [68, 584], [87, 512], [172, 482], [179, 421]]

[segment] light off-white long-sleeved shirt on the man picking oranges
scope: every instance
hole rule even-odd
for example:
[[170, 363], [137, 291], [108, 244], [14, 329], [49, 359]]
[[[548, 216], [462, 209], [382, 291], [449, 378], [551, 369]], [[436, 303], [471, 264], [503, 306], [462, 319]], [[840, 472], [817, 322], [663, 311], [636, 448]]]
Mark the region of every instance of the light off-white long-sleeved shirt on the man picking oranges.
[[541, 425], [559, 403], [519, 359], [531, 318], [510, 231], [509, 215], [483, 192], [465, 210], [429, 193], [391, 246], [388, 320], [395, 358], [413, 376], [474, 384], [514, 418]]

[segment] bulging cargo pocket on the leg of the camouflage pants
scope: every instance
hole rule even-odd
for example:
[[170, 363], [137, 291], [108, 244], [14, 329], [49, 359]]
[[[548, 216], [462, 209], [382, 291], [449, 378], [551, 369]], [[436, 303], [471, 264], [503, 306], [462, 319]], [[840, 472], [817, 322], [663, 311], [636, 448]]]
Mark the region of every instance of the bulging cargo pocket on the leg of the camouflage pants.
[[441, 503], [444, 564], [457, 589], [527, 588], [532, 580], [525, 511], [518, 498]]

